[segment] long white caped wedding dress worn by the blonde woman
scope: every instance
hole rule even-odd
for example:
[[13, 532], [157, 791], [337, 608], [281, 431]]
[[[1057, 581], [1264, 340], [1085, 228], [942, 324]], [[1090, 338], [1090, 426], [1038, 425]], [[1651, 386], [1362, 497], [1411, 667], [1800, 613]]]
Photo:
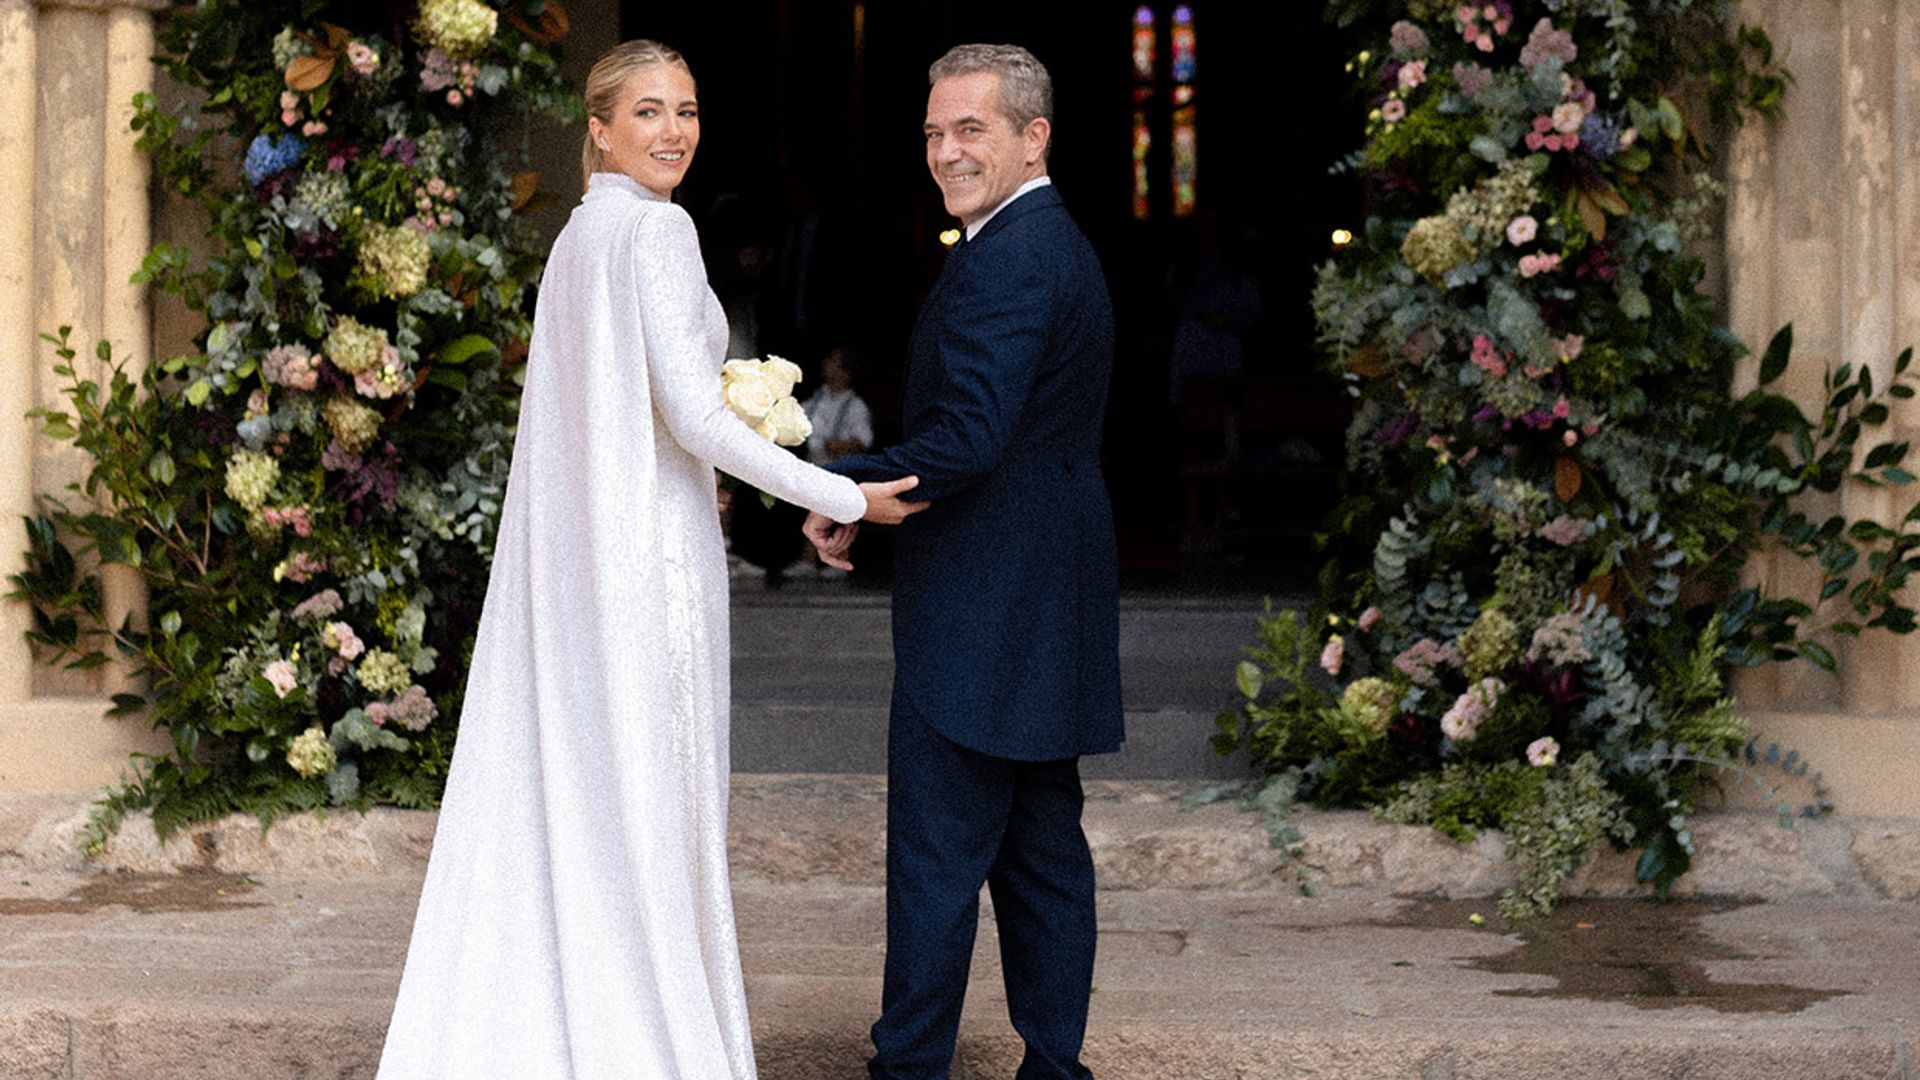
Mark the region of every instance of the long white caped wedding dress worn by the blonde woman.
[[540, 286], [380, 1080], [755, 1076], [714, 467], [835, 521], [866, 500], [724, 407], [726, 340], [687, 213], [593, 175]]

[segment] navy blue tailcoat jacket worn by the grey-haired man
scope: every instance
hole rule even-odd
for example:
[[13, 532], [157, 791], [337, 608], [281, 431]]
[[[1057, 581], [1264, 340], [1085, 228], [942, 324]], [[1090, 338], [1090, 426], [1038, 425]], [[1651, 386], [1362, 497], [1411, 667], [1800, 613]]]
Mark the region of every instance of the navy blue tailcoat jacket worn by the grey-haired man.
[[1119, 749], [1119, 586], [1100, 425], [1114, 307], [1054, 188], [947, 256], [920, 309], [904, 442], [831, 465], [920, 477], [900, 525], [895, 709], [1018, 761]]

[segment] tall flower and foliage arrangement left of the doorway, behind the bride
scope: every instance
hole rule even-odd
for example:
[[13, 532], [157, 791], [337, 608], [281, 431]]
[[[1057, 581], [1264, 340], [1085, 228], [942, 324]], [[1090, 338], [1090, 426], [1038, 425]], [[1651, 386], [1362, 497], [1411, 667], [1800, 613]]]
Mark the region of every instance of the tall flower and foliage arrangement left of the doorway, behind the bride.
[[[161, 244], [142, 277], [205, 331], [106, 386], [54, 338], [69, 409], [38, 415], [88, 454], [86, 500], [50, 500], [15, 578], [44, 655], [129, 655], [148, 690], [115, 707], [171, 734], [96, 844], [140, 805], [165, 832], [438, 801], [538, 279], [536, 177], [499, 136], [582, 110], [559, 4], [411, 8], [205, 0], [161, 23], [157, 63], [204, 108], [140, 96], [134, 127], [213, 250]], [[136, 567], [156, 623], [102, 626], [69, 542]]]

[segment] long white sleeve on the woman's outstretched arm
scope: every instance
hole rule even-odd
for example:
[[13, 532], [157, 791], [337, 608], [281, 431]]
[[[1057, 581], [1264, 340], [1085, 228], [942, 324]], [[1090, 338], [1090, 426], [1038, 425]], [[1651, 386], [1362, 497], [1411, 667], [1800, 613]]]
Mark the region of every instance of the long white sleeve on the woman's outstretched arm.
[[674, 440], [762, 492], [833, 521], [858, 521], [866, 513], [858, 484], [774, 446], [726, 407], [724, 357], [712, 356], [705, 325], [712, 290], [685, 209], [666, 204], [641, 217], [634, 236], [634, 277], [653, 407]]

